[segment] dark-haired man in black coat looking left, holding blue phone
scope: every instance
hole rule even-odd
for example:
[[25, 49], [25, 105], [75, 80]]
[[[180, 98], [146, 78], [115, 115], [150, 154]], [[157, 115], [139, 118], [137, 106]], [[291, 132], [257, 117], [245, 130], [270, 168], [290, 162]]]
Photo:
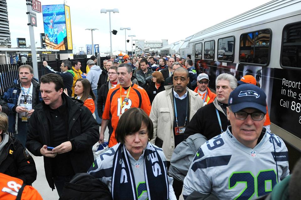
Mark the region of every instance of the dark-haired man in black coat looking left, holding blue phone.
[[87, 172], [94, 160], [92, 146], [99, 138], [91, 111], [64, 94], [63, 87], [57, 74], [40, 78], [43, 102], [31, 116], [26, 143], [32, 154], [44, 156], [46, 179], [52, 189], [56, 186], [59, 196], [74, 174]]

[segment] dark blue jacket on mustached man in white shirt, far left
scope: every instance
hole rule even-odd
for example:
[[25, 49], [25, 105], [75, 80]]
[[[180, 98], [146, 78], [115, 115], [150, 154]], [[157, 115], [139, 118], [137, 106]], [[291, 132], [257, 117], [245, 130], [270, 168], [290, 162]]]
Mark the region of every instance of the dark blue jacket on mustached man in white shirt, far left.
[[[8, 114], [8, 133], [16, 133], [16, 128], [18, 127], [18, 133], [27, 134], [27, 124], [22, 122], [19, 117], [16, 123], [16, 107], [19, 105], [19, 95], [21, 93], [20, 79], [15, 79], [13, 85], [8, 86], [5, 89], [3, 100], [7, 102], [9, 108]], [[32, 94], [32, 107], [39, 104], [42, 101], [40, 93], [40, 84], [37, 79], [31, 79], [33, 84], [33, 94]]]

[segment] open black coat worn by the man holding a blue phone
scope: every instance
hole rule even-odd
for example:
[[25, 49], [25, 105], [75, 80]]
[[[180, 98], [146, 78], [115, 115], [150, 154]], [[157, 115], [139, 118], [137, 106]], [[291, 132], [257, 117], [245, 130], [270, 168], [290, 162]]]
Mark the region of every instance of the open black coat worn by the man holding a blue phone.
[[[94, 161], [92, 146], [99, 140], [99, 126], [91, 111], [81, 100], [68, 97], [63, 93], [68, 110], [67, 139], [72, 144], [69, 153], [71, 165], [75, 173], [87, 172]], [[42, 156], [43, 145], [51, 144], [50, 124], [46, 116], [47, 108], [44, 101], [35, 107], [30, 117], [27, 142], [28, 150], [35, 156]], [[45, 175], [49, 186], [54, 189], [52, 158], [44, 157]]]

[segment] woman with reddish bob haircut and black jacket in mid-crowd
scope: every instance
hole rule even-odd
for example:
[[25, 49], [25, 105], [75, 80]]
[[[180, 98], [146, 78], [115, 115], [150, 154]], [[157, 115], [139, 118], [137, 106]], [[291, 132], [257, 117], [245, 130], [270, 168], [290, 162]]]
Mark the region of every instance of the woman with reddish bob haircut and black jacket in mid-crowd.
[[153, 78], [151, 79], [150, 83], [148, 84], [148, 87], [146, 89], [146, 92], [148, 94], [148, 97], [150, 98], [150, 104], [153, 103], [153, 100], [155, 99], [155, 96], [165, 90], [164, 88], [164, 78], [161, 72], [154, 72], [151, 74]]

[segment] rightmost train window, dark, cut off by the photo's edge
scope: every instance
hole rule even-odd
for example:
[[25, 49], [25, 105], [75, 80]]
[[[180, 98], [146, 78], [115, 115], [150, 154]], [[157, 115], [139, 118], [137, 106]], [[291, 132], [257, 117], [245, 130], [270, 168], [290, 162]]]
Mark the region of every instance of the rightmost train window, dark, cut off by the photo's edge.
[[301, 68], [301, 22], [283, 28], [281, 66]]

